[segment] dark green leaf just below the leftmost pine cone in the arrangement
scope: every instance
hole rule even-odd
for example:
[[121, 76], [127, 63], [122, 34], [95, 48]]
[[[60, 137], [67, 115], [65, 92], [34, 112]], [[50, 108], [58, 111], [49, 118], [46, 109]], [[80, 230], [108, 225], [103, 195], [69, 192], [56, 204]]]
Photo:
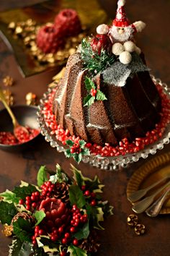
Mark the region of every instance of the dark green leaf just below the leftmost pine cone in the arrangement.
[[13, 223], [14, 234], [21, 240], [21, 242], [32, 242], [31, 236], [34, 234], [34, 229], [28, 220], [18, 218]]

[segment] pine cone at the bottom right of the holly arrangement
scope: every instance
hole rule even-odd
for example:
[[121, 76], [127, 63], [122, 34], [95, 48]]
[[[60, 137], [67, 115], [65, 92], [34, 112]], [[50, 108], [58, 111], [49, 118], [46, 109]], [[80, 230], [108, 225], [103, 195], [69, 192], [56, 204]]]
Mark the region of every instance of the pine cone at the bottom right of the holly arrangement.
[[84, 239], [79, 247], [84, 249], [86, 252], [97, 252], [100, 244], [97, 243], [97, 233], [96, 231], [91, 231], [87, 239]]

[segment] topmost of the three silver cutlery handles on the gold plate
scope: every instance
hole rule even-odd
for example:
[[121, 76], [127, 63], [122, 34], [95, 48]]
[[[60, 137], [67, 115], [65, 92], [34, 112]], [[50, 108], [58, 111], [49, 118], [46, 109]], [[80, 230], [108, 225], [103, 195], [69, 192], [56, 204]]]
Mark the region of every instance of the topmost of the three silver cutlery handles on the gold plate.
[[136, 201], [140, 200], [140, 198], [144, 197], [144, 195], [146, 195], [146, 193], [149, 190], [153, 189], [153, 187], [156, 187], [161, 182], [164, 182], [165, 179], [169, 179], [169, 178], [170, 178], [170, 174], [165, 176], [163, 179], [160, 179], [158, 182], [155, 182], [155, 183], [151, 184], [151, 186], [146, 187], [145, 189], [140, 189], [136, 192], [133, 192], [131, 195], [128, 196], [128, 200], [130, 202], [136, 202]]

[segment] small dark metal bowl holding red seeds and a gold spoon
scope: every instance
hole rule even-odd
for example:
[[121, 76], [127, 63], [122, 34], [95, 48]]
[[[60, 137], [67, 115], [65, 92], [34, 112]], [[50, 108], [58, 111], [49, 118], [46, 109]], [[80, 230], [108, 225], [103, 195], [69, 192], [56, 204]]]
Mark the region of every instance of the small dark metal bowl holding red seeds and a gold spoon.
[[[39, 129], [39, 125], [37, 122], [36, 106], [12, 106], [12, 111], [14, 113], [14, 116], [16, 116], [19, 124], [21, 124], [22, 126], [28, 126], [32, 129]], [[9, 116], [6, 109], [4, 108], [0, 111], [0, 132], [13, 132], [13, 129], [14, 127], [12, 124], [12, 119]], [[32, 140], [17, 145], [4, 145], [0, 143], [0, 149], [9, 152], [24, 150], [28, 148], [28, 146], [30, 146], [33, 142], [35, 142], [39, 135], [40, 133], [37, 136], [35, 136]]]

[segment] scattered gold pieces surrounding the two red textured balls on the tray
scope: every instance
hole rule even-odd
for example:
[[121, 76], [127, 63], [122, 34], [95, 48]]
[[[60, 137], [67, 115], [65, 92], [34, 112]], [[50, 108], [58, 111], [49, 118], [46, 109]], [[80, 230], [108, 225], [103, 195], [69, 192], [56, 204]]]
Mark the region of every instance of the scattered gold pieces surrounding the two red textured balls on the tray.
[[[51, 25], [51, 23], [48, 22], [45, 25]], [[76, 47], [79, 46], [79, 43], [81, 43], [85, 35], [84, 30], [86, 30], [86, 27], [84, 27], [84, 33], [67, 38], [64, 48], [57, 51], [55, 54], [44, 54], [36, 45], [36, 34], [37, 30], [40, 29], [40, 25], [37, 25], [35, 20], [29, 19], [23, 22], [17, 22], [17, 24], [10, 22], [8, 28], [12, 31], [16, 40], [23, 41], [24, 46], [27, 48], [32, 58], [42, 65], [54, 65], [56, 62], [62, 64], [63, 61], [66, 61], [71, 54], [75, 53]]]

